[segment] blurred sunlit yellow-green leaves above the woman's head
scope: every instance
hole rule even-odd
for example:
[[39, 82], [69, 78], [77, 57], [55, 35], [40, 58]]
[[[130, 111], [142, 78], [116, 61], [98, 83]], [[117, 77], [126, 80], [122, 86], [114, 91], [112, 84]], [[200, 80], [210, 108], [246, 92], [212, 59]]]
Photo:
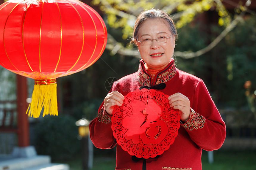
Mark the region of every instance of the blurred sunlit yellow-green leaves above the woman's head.
[[230, 13], [221, 0], [93, 0], [91, 3], [99, 6], [107, 15], [106, 22], [111, 28], [122, 28], [123, 39], [131, 37], [133, 30], [131, 23], [135, 22], [140, 12], [151, 8], [164, 9], [172, 16], [179, 14], [175, 20], [177, 28], [191, 23], [196, 15], [208, 10], [215, 10], [218, 13], [219, 26], [225, 27], [231, 22]]

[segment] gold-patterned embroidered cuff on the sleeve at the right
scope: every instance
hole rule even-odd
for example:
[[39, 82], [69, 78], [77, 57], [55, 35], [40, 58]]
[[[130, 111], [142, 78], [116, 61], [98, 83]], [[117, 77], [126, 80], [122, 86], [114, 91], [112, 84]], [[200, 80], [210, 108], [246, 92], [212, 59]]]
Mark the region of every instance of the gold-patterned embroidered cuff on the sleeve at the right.
[[193, 129], [203, 128], [205, 124], [205, 117], [196, 113], [192, 108], [190, 117], [187, 122], [180, 122], [181, 125], [189, 131]]

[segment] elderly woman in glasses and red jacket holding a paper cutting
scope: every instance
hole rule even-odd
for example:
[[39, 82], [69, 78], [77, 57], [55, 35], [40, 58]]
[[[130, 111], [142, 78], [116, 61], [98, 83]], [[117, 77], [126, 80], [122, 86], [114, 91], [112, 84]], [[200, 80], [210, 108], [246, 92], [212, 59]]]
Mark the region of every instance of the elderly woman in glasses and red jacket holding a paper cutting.
[[217, 150], [224, 142], [225, 123], [204, 82], [175, 66], [172, 56], [176, 38], [173, 20], [165, 12], [150, 9], [138, 16], [132, 37], [142, 58], [138, 72], [113, 84], [98, 117], [90, 123], [90, 138], [98, 148], [113, 148], [117, 144], [111, 129], [113, 110], [122, 106], [125, 95], [142, 86], [161, 85], [157, 91], [169, 96], [170, 107], [178, 110], [181, 126], [171, 147], [155, 158], [134, 159], [117, 144], [117, 170], [201, 170], [202, 149]]

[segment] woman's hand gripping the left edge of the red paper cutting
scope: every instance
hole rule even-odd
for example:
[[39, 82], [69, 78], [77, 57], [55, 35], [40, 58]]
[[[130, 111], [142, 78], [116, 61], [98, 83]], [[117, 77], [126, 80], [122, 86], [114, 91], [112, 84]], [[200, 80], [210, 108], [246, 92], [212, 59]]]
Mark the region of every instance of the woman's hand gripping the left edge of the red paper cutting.
[[104, 108], [108, 115], [113, 115], [115, 105], [122, 106], [124, 103], [124, 96], [118, 91], [108, 93], [104, 99]]

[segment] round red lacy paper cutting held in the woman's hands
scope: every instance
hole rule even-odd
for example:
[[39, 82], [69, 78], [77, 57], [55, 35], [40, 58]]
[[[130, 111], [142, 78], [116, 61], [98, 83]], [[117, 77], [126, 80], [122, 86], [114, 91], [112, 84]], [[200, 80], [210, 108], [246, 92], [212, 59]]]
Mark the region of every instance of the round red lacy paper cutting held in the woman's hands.
[[179, 113], [170, 107], [168, 95], [142, 89], [124, 98], [111, 119], [117, 143], [138, 158], [154, 158], [168, 150], [180, 126]]

